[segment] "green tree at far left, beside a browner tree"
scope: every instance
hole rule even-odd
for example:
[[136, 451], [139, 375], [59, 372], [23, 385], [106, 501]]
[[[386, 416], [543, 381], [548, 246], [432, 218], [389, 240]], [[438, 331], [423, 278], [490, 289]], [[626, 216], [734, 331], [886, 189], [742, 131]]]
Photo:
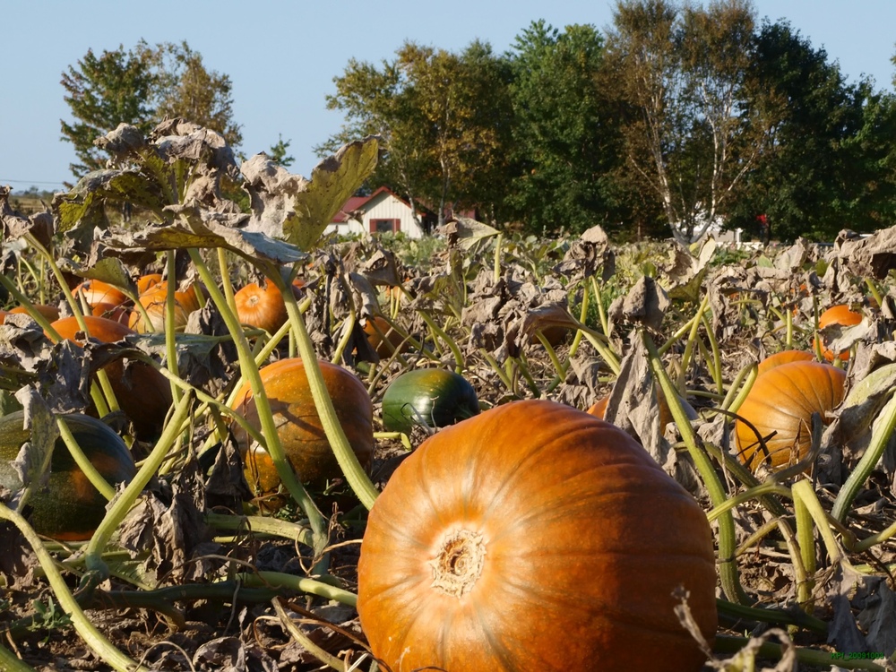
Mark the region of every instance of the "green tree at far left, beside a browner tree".
[[72, 124], [61, 121], [62, 139], [72, 142], [80, 163], [69, 166], [75, 177], [102, 168], [105, 158], [93, 141], [121, 123], [150, 131], [155, 118], [156, 74], [151, 56], [141, 42], [135, 50], [119, 46], [96, 56], [91, 49], [62, 75], [65, 102]]

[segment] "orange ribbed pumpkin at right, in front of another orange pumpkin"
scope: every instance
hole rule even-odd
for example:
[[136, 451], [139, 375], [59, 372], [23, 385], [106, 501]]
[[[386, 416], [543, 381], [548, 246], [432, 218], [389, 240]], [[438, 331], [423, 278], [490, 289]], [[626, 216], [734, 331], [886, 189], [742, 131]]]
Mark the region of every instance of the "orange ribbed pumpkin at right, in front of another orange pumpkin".
[[[766, 464], [771, 469], [791, 463], [797, 445], [798, 461], [812, 443], [812, 414], [824, 419], [827, 411], [843, 401], [846, 374], [842, 369], [815, 361], [794, 361], [775, 366], [758, 376], [737, 415], [753, 423], [765, 437], [769, 450]], [[735, 423], [737, 454], [752, 470], [765, 459], [754, 431], [744, 422]]]

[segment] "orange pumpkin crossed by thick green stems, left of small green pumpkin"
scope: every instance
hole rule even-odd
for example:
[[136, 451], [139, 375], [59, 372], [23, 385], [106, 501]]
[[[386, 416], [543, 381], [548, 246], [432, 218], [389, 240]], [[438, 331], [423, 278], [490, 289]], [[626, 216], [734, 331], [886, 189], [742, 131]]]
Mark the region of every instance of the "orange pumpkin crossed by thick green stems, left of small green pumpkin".
[[[321, 361], [318, 364], [323, 374], [323, 383], [336, 409], [336, 418], [358, 456], [358, 461], [363, 467], [369, 468], [374, 453], [373, 402], [357, 376], [329, 362]], [[314, 406], [305, 374], [305, 363], [300, 358], [280, 359], [264, 366], [260, 373], [264, 392], [274, 414], [280, 443], [298, 478], [314, 485], [323, 485], [327, 479], [339, 476], [342, 471]], [[250, 425], [261, 429], [248, 383], [237, 392], [233, 408], [242, 413]], [[234, 436], [246, 461], [246, 480], [249, 485], [261, 494], [276, 490], [280, 477], [268, 453], [263, 449], [249, 453], [249, 444], [252, 442], [236, 424]]]

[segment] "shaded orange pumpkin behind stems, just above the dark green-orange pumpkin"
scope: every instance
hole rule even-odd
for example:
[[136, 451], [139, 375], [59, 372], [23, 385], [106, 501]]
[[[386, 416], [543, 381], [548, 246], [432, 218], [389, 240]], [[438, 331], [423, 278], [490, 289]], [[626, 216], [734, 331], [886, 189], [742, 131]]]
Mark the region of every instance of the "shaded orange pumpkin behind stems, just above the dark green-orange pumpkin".
[[[84, 323], [90, 337], [104, 343], [114, 343], [134, 334], [125, 324], [105, 317], [84, 315]], [[74, 317], [64, 317], [51, 326], [62, 338], [83, 345], [83, 340], [75, 338], [81, 328]], [[134, 424], [134, 434], [141, 439], [158, 436], [172, 403], [168, 379], [143, 362], [134, 362], [125, 367], [122, 360], [117, 359], [103, 370], [108, 374], [118, 405]]]

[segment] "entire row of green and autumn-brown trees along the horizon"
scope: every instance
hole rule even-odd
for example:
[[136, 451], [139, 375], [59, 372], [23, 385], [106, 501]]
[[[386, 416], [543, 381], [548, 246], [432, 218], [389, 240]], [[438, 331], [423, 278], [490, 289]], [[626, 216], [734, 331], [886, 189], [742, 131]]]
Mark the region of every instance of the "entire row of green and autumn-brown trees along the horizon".
[[[73, 93], [84, 88], [76, 75], [96, 79], [88, 56], [66, 75], [72, 88], [63, 82], [84, 120], [98, 107]], [[114, 56], [142, 64], [112, 74], [145, 95], [128, 109], [97, 94], [111, 108], [102, 114], [186, 116], [238, 144], [228, 78], [204, 71], [185, 43]], [[205, 77], [187, 78], [191, 69]], [[379, 64], [350, 60], [334, 84], [326, 104], [345, 124], [318, 154], [379, 135], [366, 187], [389, 186], [442, 218], [475, 208], [536, 234], [600, 224], [683, 242], [719, 223], [788, 240], [893, 220], [896, 97], [847, 82], [823, 48], [789, 22], [758, 21], [748, 0], [620, 0], [606, 31], [532, 22], [504, 54], [481, 40], [456, 53], [408, 41]], [[200, 91], [202, 105], [185, 108]], [[73, 169], [96, 165], [96, 134], [90, 148], [82, 137], [98, 127], [63, 123], [85, 148]], [[289, 159], [288, 146], [280, 138], [271, 151]]]

